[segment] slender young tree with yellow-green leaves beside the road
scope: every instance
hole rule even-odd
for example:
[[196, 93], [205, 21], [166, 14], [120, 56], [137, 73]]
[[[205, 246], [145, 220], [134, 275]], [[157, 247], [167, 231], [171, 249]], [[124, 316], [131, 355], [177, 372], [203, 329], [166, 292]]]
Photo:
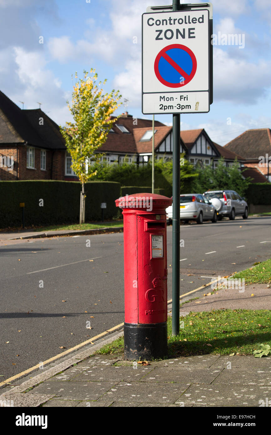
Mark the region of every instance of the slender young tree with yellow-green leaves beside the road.
[[[94, 154], [107, 139], [110, 127], [116, 118], [110, 119], [121, 103], [119, 91], [114, 89], [110, 94], [102, 95], [102, 82], [96, 84], [98, 75], [91, 68], [90, 76], [84, 71], [84, 78], [77, 80], [72, 94], [72, 104], [67, 101], [74, 122], [66, 122], [60, 126], [60, 132], [65, 139], [67, 151], [72, 158], [71, 168], [77, 175], [82, 191], [80, 194], [80, 224], [85, 221], [85, 183], [94, 175], [88, 163], [97, 161], [102, 154]], [[75, 74], [77, 79], [77, 73]], [[106, 83], [106, 79], [103, 84]]]

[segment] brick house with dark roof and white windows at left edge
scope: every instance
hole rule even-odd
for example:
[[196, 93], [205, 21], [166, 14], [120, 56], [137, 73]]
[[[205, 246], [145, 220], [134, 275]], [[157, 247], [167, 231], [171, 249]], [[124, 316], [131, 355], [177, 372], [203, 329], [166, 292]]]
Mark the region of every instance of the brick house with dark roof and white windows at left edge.
[[20, 109], [0, 91], [0, 180], [64, 180], [65, 154], [53, 120], [40, 109]]

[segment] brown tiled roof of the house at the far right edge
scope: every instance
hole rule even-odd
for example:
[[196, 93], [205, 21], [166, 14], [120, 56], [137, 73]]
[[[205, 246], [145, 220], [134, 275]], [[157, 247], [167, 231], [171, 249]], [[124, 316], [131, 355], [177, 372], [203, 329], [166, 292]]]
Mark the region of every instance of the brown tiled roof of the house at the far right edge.
[[271, 153], [270, 128], [258, 128], [244, 131], [227, 145], [228, 150], [241, 154], [245, 159], [258, 159], [259, 156]]

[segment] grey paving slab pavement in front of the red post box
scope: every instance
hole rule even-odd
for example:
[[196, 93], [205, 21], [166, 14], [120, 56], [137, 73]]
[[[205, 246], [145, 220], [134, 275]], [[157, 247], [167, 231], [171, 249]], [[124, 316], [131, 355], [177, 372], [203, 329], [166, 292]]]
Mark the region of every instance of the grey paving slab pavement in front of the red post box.
[[11, 388], [0, 400], [16, 407], [258, 407], [271, 397], [271, 357], [200, 355], [142, 366], [94, 355], [39, 385], [32, 380], [29, 391]]

